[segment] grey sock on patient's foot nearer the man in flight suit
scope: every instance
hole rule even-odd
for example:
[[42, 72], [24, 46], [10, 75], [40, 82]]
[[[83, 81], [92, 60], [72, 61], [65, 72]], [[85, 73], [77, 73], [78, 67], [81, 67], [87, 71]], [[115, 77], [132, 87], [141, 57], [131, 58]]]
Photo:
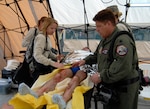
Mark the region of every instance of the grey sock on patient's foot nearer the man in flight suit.
[[60, 109], [66, 108], [66, 102], [63, 100], [62, 96], [54, 94], [52, 97], [52, 101], [53, 103], [58, 104]]

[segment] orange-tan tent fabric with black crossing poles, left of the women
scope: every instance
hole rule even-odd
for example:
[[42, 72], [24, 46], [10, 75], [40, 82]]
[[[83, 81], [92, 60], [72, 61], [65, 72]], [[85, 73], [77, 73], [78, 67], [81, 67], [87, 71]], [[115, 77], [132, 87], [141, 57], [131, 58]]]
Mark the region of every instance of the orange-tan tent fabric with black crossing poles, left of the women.
[[4, 58], [18, 58], [25, 50], [22, 39], [30, 27], [34, 27], [42, 16], [51, 16], [46, 0], [1, 0], [0, 1], [0, 47]]

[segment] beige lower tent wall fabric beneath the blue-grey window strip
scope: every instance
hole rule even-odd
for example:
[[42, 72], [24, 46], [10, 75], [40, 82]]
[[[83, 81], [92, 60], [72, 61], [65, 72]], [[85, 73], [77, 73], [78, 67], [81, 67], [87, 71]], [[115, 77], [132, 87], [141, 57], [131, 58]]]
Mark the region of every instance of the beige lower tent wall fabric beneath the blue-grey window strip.
[[[71, 52], [85, 47], [85, 40], [66, 40], [64, 51]], [[99, 40], [89, 40], [90, 49], [94, 52], [99, 44]], [[74, 46], [75, 45], [75, 46]], [[150, 42], [147, 41], [136, 41], [137, 53], [140, 61], [150, 60]]]

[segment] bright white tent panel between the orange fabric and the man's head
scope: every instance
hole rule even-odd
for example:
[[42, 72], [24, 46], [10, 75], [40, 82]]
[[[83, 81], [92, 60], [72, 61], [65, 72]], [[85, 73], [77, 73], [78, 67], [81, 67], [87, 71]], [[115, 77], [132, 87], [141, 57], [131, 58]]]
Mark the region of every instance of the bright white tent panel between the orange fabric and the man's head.
[[[93, 16], [105, 8], [101, 0], [49, 0], [54, 18], [60, 25], [93, 24]], [[84, 10], [85, 5], [85, 10]], [[87, 16], [85, 15], [87, 14]]]

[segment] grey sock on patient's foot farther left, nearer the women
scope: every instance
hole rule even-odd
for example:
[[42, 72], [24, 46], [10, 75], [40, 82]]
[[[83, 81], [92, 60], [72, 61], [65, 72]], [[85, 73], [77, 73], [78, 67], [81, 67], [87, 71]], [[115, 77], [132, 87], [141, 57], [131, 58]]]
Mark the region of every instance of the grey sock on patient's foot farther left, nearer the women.
[[24, 83], [21, 83], [18, 87], [18, 92], [21, 94], [21, 95], [26, 95], [26, 94], [31, 94], [33, 95], [34, 97], [38, 98], [38, 95], [32, 91], [26, 84]]

